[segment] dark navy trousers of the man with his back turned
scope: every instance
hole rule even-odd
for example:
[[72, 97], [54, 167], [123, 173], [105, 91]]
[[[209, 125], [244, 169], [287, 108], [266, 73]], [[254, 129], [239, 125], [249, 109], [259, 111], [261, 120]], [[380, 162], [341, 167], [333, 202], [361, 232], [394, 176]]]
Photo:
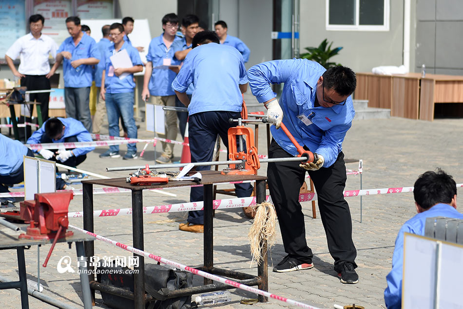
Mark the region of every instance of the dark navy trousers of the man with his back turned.
[[[220, 135], [222, 142], [228, 149], [228, 129], [237, 125], [237, 123], [229, 123], [229, 119], [238, 119], [239, 117], [241, 117], [241, 112], [229, 111], [211, 111], [191, 115], [188, 136], [192, 162], [212, 161], [217, 134]], [[196, 166], [197, 171], [210, 169], [211, 166]], [[251, 184], [235, 184], [237, 197], [251, 196], [252, 189]], [[190, 202], [202, 201], [203, 196], [204, 188], [202, 186], [190, 189]], [[187, 221], [191, 224], [204, 224], [204, 210], [189, 211]]]

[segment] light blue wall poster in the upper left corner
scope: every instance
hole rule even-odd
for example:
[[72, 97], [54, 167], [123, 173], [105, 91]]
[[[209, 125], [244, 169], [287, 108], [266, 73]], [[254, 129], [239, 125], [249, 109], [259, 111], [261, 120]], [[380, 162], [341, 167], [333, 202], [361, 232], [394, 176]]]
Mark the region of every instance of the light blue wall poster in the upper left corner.
[[0, 0], [0, 58], [13, 43], [26, 34], [24, 0]]

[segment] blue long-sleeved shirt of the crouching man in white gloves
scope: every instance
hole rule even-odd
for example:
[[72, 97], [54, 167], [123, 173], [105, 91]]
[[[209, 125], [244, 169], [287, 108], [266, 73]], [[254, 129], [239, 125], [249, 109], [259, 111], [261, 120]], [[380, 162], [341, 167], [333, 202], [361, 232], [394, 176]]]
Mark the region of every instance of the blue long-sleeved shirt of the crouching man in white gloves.
[[[58, 119], [64, 125], [64, 134], [59, 140], [53, 140], [53, 143], [64, 143], [64, 139], [71, 136], [77, 137], [77, 141], [79, 142], [92, 142], [92, 136], [90, 135], [90, 133], [88, 133], [87, 129], [83, 126], [83, 124], [80, 121], [74, 118]], [[42, 135], [45, 134], [46, 123], [47, 122], [44, 122], [43, 125], [37, 131], [32, 133], [32, 136], [27, 140], [27, 144], [40, 144]], [[75, 148], [72, 152], [74, 153], [74, 156], [78, 157], [94, 149], [95, 147], [82, 147]]]

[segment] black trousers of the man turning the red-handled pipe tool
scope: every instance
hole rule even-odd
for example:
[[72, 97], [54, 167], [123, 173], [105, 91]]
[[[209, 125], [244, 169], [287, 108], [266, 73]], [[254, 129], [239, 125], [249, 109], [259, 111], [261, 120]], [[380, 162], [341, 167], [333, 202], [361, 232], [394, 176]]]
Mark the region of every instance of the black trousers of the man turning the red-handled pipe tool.
[[[289, 158], [288, 152], [274, 140], [269, 158]], [[304, 214], [299, 203], [299, 190], [304, 183], [306, 170], [297, 162], [269, 163], [267, 177], [270, 196], [275, 206], [286, 253], [301, 262], [311, 263], [312, 250], [307, 246]], [[352, 221], [349, 206], [344, 199], [346, 165], [341, 152], [333, 165], [309, 171], [318, 196], [318, 208], [327, 235], [328, 250], [334, 259], [334, 270], [350, 262], [357, 267], [357, 256], [352, 241]]]

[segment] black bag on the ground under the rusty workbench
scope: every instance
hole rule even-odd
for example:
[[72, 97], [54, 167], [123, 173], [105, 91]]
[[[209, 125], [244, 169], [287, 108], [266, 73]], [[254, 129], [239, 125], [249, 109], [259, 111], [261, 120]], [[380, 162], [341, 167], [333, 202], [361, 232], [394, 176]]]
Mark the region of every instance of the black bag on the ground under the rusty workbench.
[[[128, 267], [102, 266], [97, 268], [99, 283], [134, 292], [134, 275]], [[112, 273], [109, 273], [111, 270]], [[146, 304], [146, 309], [189, 309], [191, 295], [166, 299], [171, 290], [193, 286], [193, 274], [172, 270], [161, 265], [145, 264], [145, 291], [156, 300]], [[133, 309], [134, 301], [101, 291], [104, 303], [114, 309]]]

